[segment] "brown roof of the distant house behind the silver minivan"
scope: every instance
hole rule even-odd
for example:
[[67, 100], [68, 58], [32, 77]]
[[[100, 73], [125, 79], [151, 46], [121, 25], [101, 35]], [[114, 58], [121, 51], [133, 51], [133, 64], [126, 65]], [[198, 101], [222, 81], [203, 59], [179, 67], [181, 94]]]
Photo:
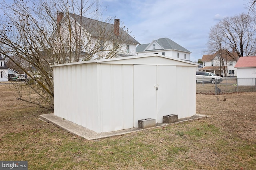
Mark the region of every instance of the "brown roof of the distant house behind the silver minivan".
[[[216, 52], [214, 54], [208, 54], [208, 55], [203, 55], [201, 61], [212, 61], [215, 57], [220, 56], [220, 52]], [[238, 55], [236, 52], [228, 52], [226, 50], [222, 50], [222, 58], [225, 59], [226, 61], [234, 61], [232, 57], [234, 57], [236, 60], [238, 59]]]

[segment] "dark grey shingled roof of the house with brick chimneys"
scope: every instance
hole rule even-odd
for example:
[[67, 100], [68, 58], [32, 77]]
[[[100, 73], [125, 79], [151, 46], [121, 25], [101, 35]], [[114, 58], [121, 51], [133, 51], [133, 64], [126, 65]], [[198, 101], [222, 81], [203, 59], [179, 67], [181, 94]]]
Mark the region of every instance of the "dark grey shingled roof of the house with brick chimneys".
[[[78, 22], [82, 27], [88, 31], [93, 37], [103, 37], [108, 39], [114, 39], [114, 24], [106, 23], [102, 21], [93, 20], [83, 16], [78, 16], [76, 14], [69, 13], [76, 22]], [[119, 27], [119, 37], [131, 44], [140, 44], [132, 36], [130, 36], [126, 31]]]

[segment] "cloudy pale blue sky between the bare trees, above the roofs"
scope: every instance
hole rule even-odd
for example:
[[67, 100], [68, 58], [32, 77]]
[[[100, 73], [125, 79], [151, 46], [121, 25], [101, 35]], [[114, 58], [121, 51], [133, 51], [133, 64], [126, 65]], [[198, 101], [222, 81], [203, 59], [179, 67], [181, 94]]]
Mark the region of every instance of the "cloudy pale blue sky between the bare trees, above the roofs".
[[[169, 38], [198, 61], [207, 49], [210, 27], [224, 17], [247, 13], [248, 0], [99, 0], [107, 16], [124, 22], [140, 44]], [[106, 8], [105, 8], [106, 7]]]

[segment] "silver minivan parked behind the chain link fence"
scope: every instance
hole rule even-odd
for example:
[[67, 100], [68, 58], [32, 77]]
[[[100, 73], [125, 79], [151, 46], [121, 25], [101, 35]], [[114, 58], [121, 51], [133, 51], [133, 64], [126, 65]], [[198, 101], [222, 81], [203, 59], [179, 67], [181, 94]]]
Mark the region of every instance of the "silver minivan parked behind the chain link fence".
[[217, 81], [218, 84], [222, 82], [221, 76], [217, 76], [212, 72], [204, 72], [204, 71], [196, 72], [196, 83], [210, 82], [212, 84], [215, 84], [215, 81]]

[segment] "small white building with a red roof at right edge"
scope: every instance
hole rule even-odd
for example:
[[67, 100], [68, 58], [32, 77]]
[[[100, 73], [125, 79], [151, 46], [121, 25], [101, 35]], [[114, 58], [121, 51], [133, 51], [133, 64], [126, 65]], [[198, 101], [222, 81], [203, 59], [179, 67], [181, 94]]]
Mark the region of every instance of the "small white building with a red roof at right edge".
[[237, 68], [238, 85], [256, 85], [256, 56], [240, 57], [235, 68]]

